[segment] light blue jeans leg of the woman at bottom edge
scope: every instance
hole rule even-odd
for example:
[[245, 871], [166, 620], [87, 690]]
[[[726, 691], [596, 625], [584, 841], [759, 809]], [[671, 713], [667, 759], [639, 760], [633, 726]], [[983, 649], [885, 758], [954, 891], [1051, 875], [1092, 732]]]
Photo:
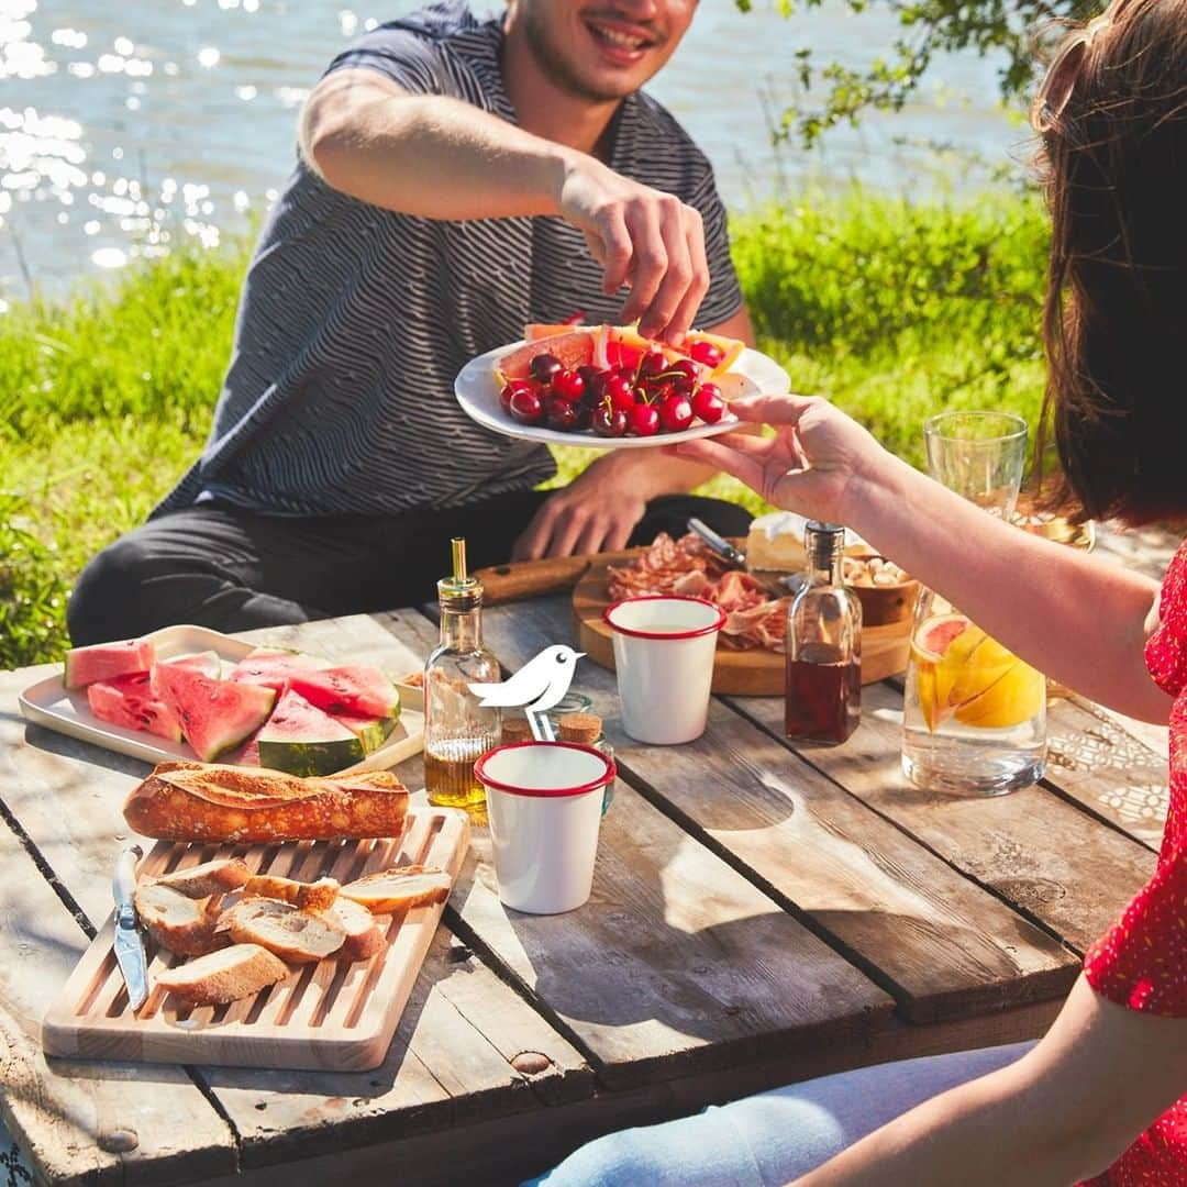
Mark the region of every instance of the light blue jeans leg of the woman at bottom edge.
[[862, 1067], [710, 1106], [696, 1117], [608, 1134], [532, 1185], [782, 1187], [915, 1105], [1013, 1064], [1033, 1046]]

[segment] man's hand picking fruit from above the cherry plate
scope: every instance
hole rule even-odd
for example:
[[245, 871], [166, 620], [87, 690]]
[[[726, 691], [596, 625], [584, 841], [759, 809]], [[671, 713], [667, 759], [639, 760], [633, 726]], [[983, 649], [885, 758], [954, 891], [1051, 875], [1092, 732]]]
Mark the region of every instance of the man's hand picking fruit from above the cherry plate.
[[639, 318], [648, 338], [679, 341], [709, 291], [700, 211], [583, 153], [567, 159], [559, 207], [605, 269], [607, 296], [630, 286], [622, 320]]

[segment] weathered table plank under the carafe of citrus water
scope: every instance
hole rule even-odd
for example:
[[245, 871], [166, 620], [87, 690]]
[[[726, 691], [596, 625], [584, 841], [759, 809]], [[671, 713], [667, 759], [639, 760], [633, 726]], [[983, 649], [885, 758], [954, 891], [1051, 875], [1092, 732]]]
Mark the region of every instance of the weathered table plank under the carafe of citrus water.
[[[779, 698], [732, 702], [782, 734]], [[834, 750], [805, 751], [819, 770], [948, 864], [1084, 952], [1154, 872], [1155, 855], [1043, 787], [998, 798], [935, 795], [902, 774], [902, 696], [862, 690], [862, 724]]]

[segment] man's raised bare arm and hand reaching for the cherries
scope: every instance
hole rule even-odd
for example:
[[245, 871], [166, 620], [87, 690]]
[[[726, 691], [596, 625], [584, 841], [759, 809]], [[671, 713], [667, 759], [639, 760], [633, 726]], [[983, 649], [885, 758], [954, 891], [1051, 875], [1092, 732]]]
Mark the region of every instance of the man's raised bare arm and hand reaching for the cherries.
[[414, 95], [369, 69], [326, 75], [301, 115], [305, 159], [328, 185], [421, 218], [559, 215], [623, 284], [621, 318], [679, 338], [709, 288], [700, 212], [470, 103]]

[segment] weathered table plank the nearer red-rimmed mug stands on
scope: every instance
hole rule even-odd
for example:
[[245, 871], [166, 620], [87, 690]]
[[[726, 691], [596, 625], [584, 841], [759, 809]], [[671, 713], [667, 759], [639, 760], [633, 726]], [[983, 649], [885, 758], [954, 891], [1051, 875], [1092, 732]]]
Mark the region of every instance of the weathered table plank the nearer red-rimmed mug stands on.
[[[487, 616], [496, 654], [500, 614]], [[594, 894], [578, 912], [508, 910], [484, 830], [472, 848], [472, 878], [451, 899], [459, 934], [575, 1034], [612, 1086], [830, 1035], [852, 1043], [890, 1009], [846, 960], [630, 788], [603, 820]]]

